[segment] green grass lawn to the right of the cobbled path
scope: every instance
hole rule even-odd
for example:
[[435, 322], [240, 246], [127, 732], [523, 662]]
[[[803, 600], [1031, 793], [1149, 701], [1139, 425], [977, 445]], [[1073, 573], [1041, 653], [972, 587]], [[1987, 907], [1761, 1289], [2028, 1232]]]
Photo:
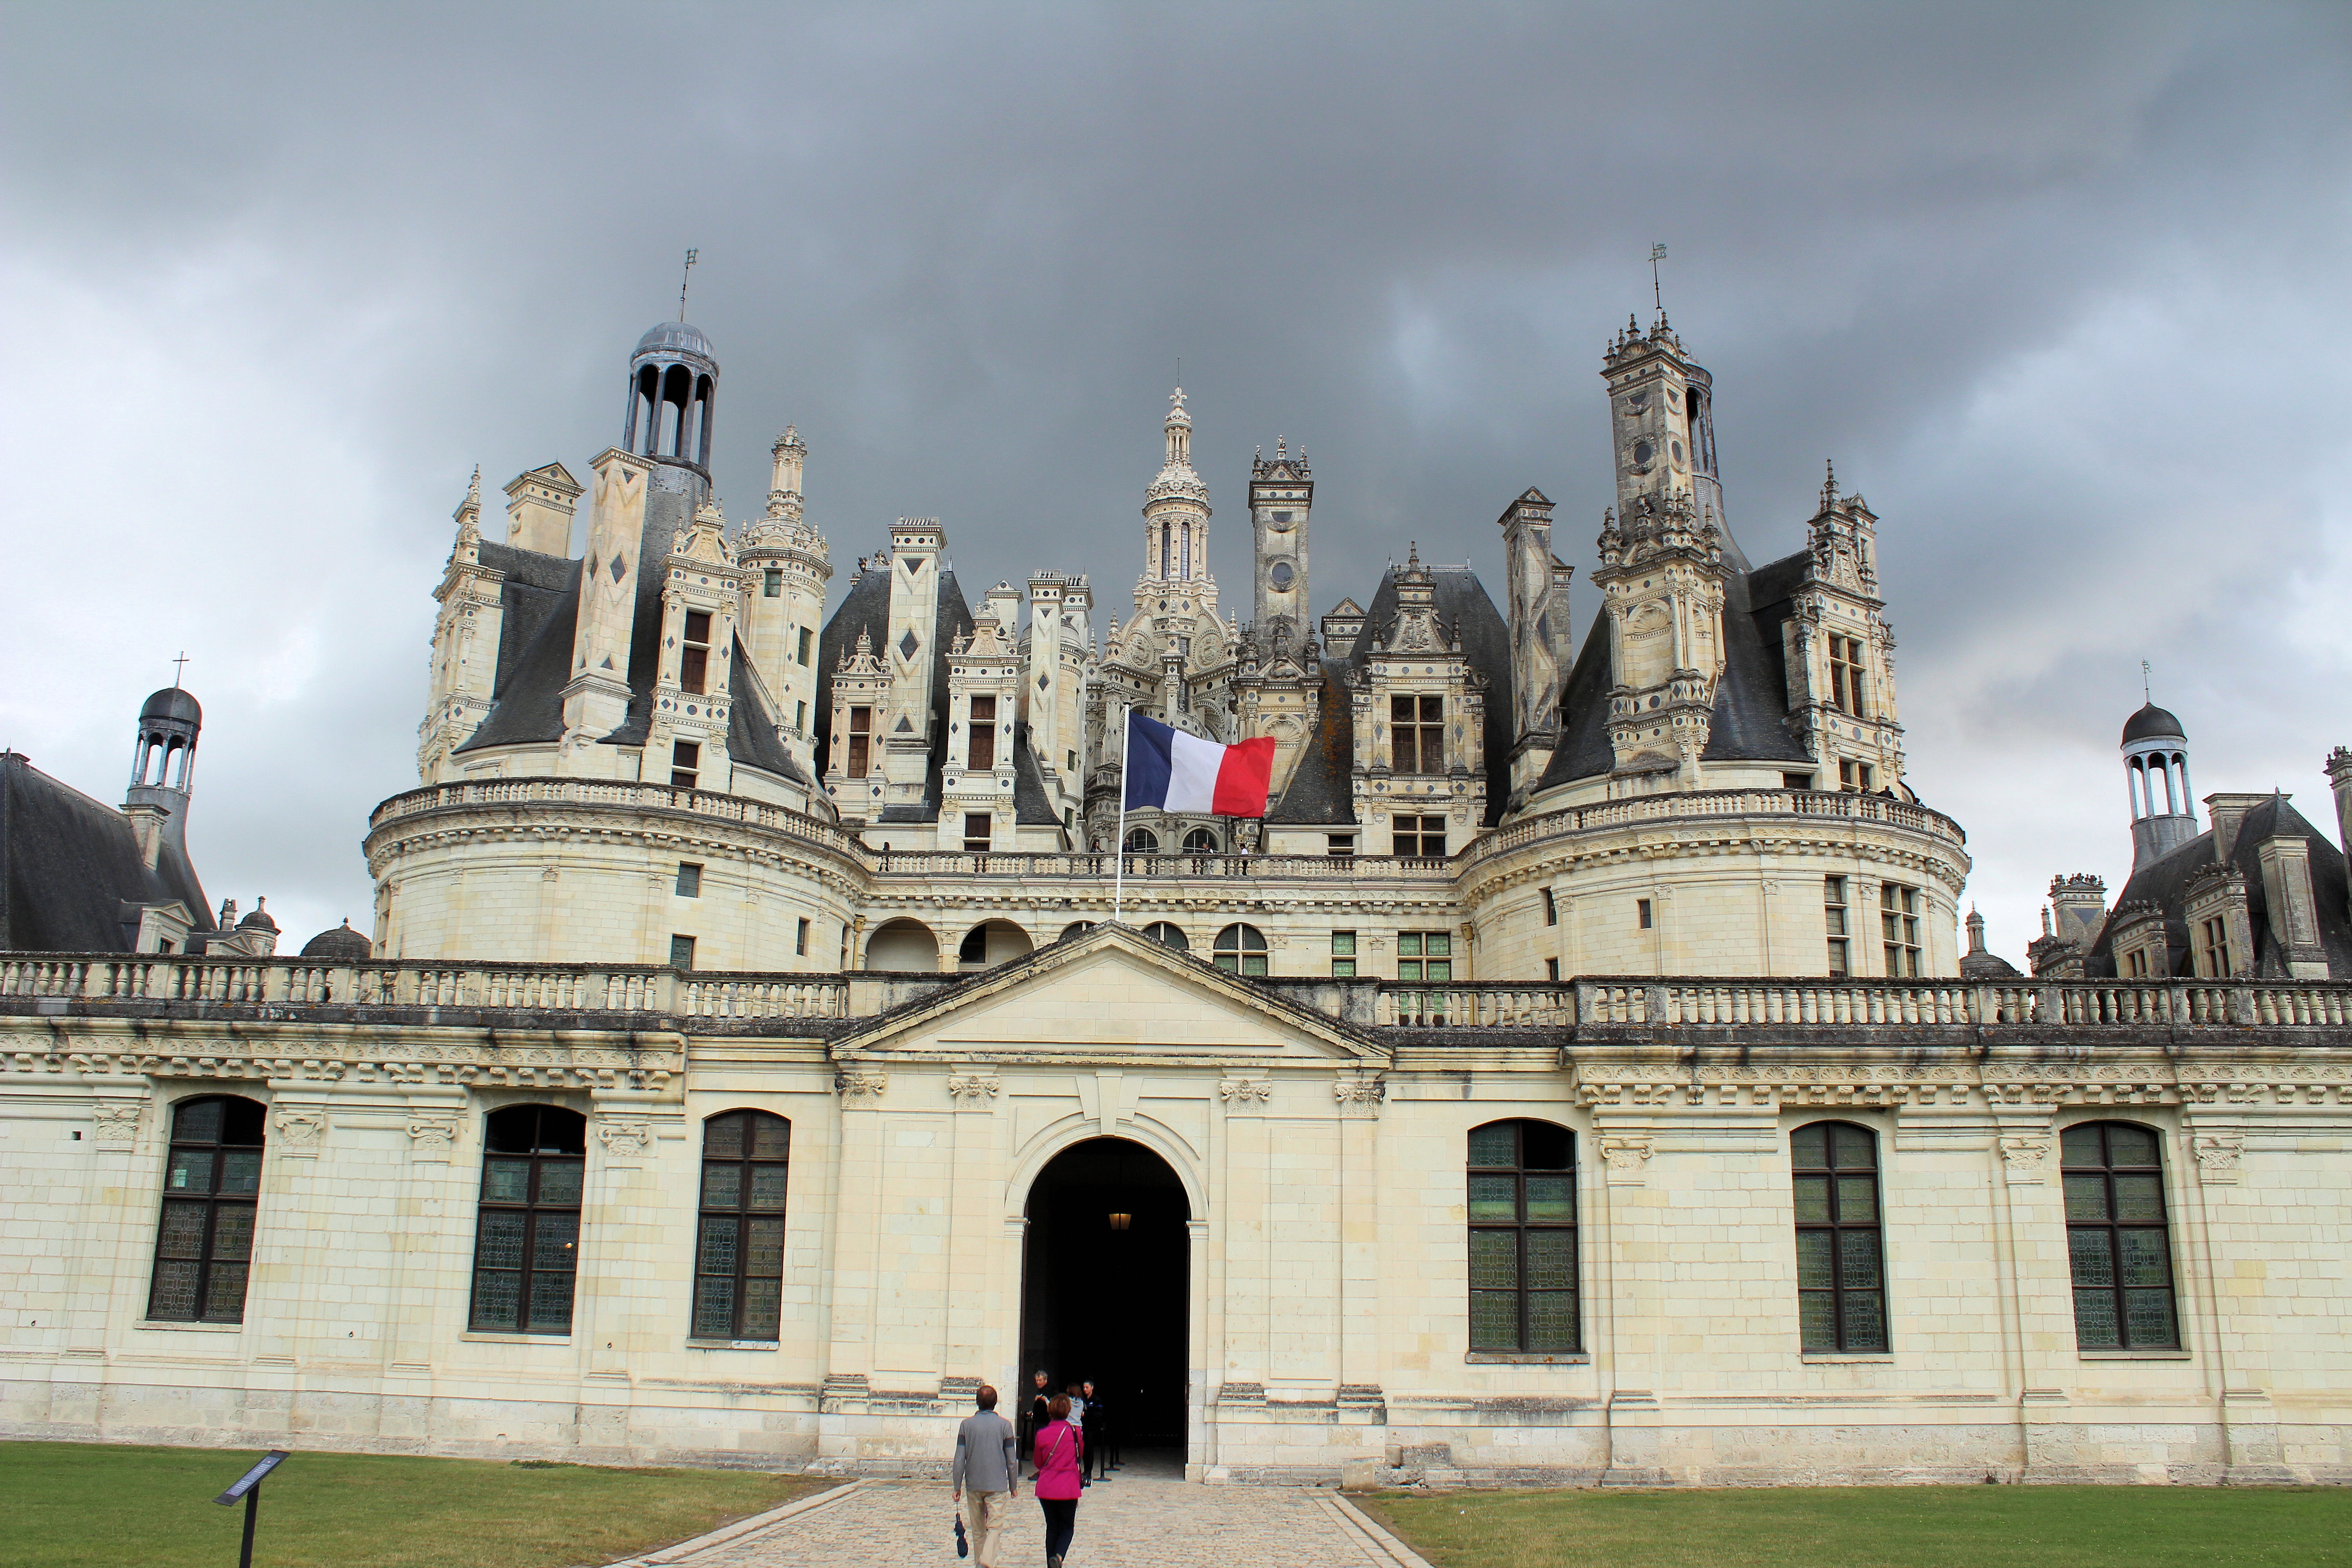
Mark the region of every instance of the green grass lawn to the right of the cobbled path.
[[2343, 1568], [2352, 1490], [1825, 1486], [1374, 1493], [1439, 1568]]

